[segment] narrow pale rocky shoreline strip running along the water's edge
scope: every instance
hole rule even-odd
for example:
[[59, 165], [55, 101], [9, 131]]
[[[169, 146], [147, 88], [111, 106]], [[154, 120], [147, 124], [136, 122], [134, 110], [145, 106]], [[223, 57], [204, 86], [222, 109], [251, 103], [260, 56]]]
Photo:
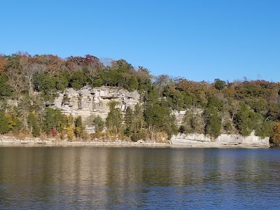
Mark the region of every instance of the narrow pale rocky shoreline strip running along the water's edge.
[[157, 142], [128, 142], [128, 141], [45, 141], [42, 139], [0, 139], [0, 147], [22, 146], [95, 146], [95, 147], [146, 147], [146, 148], [269, 148], [262, 144], [225, 144], [218, 142], [167, 144]]

